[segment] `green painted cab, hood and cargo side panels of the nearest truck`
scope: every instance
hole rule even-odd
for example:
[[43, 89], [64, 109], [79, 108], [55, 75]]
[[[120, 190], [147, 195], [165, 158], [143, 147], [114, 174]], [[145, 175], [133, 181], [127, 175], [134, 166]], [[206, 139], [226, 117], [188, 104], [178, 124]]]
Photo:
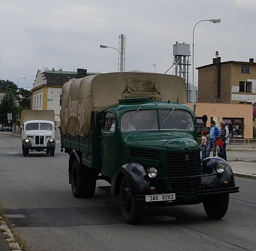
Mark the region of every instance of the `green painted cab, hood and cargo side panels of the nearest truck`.
[[[136, 130], [123, 132], [121, 130], [121, 116], [127, 111], [143, 110], [183, 110], [191, 115], [192, 123], [196, 118], [190, 107], [183, 104], [154, 102], [149, 99], [142, 101], [124, 101], [108, 107], [97, 114], [96, 121], [104, 121], [106, 113], [113, 113], [116, 130], [104, 130], [102, 125], [96, 124], [87, 137], [63, 135], [61, 144], [66, 149], [74, 149], [82, 154], [82, 164], [91, 169], [101, 169], [103, 175], [113, 178], [123, 164], [137, 162], [145, 169], [155, 167], [161, 177], [168, 177], [167, 154], [193, 152], [200, 153], [197, 145], [196, 127], [193, 130]], [[139, 154], [138, 154], [139, 152]], [[143, 156], [143, 152], [146, 156]], [[152, 155], [151, 155], [152, 154]], [[155, 154], [155, 156], [154, 156]], [[141, 156], [140, 156], [141, 155]], [[169, 183], [166, 182], [169, 186]]]

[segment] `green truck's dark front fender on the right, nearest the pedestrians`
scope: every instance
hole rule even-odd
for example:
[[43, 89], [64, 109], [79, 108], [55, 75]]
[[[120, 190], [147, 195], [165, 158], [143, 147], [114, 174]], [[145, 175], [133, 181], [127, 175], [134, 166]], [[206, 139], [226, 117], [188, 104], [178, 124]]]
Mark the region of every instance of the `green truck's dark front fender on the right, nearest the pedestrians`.
[[[215, 169], [219, 163], [222, 163], [225, 166], [225, 171], [222, 174], [218, 174]], [[229, 163], [222, 158], [210, 157], [202, 160], [202, 175], [205, 175], [202, 177], [202, 184], [205, 188], [215, 189], [235, 186], [233, 171]], [[228, 185], [224, 185], [224, 182], [228, 182]]]

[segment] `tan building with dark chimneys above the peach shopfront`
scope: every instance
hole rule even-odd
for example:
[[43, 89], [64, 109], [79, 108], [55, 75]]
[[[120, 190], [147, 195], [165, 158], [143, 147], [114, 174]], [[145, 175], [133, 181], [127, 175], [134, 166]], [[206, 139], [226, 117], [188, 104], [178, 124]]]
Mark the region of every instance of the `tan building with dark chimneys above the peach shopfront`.
[[196, 68], [198, 70], [198, 102], [254, 104], [256, 102], [256, 63], [221, 62]]

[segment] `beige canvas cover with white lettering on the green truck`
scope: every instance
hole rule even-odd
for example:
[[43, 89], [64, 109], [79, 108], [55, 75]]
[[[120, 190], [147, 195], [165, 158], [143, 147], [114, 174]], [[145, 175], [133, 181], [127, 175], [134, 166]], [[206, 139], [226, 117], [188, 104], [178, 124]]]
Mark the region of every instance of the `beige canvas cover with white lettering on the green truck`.
[[151, 72], [111, 72], [66, 82], [62, 88], [60, 130], [86, 136], [91, 131], [91, 110], [96, 113], [129, 97], [185, 104], [186, 83], [181, 77]]

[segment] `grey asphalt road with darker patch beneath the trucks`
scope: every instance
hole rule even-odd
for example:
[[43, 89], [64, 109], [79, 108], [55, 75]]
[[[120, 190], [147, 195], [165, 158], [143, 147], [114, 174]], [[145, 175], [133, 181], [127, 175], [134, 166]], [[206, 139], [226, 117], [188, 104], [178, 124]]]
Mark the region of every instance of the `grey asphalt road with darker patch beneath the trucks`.
[[[124, 222], [118, 198], [96, 189], [76, 199], [68, 154], [21, 154], [19, 137], [0, 133], [0, 202], [30, 250], [255, 250], [256, 180], [236, 177], [240, 193], [218, 221], [201, 205], [144, 207], [139, 225]], [[98, 186], [106, 185], [98, 182]]]

